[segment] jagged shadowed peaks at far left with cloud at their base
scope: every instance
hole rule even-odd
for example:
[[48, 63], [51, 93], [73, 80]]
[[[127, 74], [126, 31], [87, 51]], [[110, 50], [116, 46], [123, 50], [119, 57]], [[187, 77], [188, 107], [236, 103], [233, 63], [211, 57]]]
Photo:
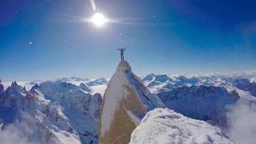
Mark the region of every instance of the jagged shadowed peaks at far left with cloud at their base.
[[[33, 92], [27, 92], [24, 87], [13, 82], [0, 96], [1, 142], [4, 137], [10, 137], [8, 133], [11, 133], [15, 139], [21, 141], [23, 137], [27, 137], [26, 143], [80, 143], [79, 134], [67, 121], [58, 117], [59, 123], [52, 124], [49, 121], [50, 117], [43, 114], [40, 109], [42, 107], [39, 99]], [[4, 139], [4, 143], [14, 141]]]

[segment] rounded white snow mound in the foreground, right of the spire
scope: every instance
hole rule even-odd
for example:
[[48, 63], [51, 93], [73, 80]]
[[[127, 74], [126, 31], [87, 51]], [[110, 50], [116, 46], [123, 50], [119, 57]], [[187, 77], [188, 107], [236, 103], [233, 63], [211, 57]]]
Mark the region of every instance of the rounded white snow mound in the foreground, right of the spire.
[[130, 143], [235, 143], [220, 129], [170, 110], [149, 111]]

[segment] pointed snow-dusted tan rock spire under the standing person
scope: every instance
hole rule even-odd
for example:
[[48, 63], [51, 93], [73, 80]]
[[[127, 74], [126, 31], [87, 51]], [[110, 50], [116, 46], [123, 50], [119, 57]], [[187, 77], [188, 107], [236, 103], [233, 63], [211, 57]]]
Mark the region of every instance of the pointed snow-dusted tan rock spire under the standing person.
[[121, 60], [104, 93], [99, 120], [99, 143], [129, 143], [130, 134], [141, 122], [140, 115], [163, 102], [152, 95], [127, 61]]

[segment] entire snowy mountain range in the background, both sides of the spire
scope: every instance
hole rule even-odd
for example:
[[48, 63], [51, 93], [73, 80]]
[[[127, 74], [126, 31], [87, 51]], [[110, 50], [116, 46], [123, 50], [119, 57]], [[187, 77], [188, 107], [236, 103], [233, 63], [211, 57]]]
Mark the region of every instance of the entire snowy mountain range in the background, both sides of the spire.
[[[256, 70], [149, 74], [141, 77], [141, 82], [152, 95], [156, 94], [163, 101], [166, 108], [220, 127], [237, 143], [255, 143], [256, 139], [249, 136], [256, 130], [252, 127], [256, 126], [255, 77]], [[0, 82], [1, 141], [98, 143], [99, 111], [108, 82], [109, 79], [104, 78], [89, 80], [77, 77], [46, 82]], [[243, 117], [245, 114], [249, 114], [248, 117]], [[248, 118], [250, 126], [242, 122]], [[238, 128], [241, 124], [248, 129], [241, 131]], [[13, 129], [17, 139], [10, 137]], [[244, 134], [238, 137], [241, 132]]]

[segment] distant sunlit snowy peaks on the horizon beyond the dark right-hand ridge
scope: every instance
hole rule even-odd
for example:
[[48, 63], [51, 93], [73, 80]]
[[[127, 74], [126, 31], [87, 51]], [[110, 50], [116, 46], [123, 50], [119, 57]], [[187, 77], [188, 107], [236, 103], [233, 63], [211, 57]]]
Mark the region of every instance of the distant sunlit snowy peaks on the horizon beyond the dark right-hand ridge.
[[145, 86], [152, 93], [166, 92], [178, 87], [189, 86], [217, 86], [235, 87], [255, 94], [256, 70], [238, 71], [233, 73], [196, 73], [184, 75], [155, 75], [148, 74], [141, 77]]

